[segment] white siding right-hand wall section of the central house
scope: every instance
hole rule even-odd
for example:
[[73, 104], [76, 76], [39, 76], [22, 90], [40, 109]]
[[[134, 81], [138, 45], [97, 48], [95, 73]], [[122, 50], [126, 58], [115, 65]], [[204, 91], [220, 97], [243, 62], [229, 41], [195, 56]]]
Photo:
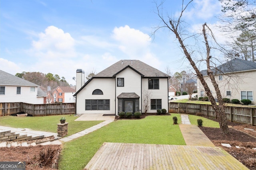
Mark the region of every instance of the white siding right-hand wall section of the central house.
[[[159, 89], [148, 89], [148, 78], [142, 79], [142, 113], [145, 112], [146, 93], [150, 94], [150, 99], [162, 99], [162, 109], [166, 109], [168, 112], [168, 78], [159, 78]], [[147, 112], [156, 113], [156, 109], [149, 107]]]

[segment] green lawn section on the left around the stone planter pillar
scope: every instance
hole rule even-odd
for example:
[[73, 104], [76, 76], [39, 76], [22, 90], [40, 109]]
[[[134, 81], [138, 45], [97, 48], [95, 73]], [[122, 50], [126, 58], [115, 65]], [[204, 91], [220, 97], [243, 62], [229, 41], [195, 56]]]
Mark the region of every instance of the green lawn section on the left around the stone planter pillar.
[[57, 116], [37, 116], [37, 117], [17, 117], [2, 116], [0, 117], [0, 126], [14, 128], [28, 128], [35, 131], [46, 131], [57, 133], [57, 124], [60, 123], [60, 117], [65, 117], [68, 122], [68, 135], [80, 132], [84, 129], [97, 125], [103, 121], [74, 121], [78, 117], [74, 115], [57, 115]]

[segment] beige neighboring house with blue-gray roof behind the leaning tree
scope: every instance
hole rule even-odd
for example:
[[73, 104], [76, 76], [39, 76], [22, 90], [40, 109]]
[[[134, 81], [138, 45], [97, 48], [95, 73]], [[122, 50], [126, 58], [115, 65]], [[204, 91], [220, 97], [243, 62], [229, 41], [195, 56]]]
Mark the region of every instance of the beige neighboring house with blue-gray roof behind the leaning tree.
[[[216, 92], [210, 78], [207, 75], [207, 70], [202, 70], [213, 96], [216, 98]], [[212, 69], [215, 74], [215, 80], [218, 83], [222, 98], [232, 99], [249, 99], [252, 104], [256, 104], [256, 63], [241, 59], [232, 59]], [[198, 97], [206, 96], [204, 87], [198, 80]]]

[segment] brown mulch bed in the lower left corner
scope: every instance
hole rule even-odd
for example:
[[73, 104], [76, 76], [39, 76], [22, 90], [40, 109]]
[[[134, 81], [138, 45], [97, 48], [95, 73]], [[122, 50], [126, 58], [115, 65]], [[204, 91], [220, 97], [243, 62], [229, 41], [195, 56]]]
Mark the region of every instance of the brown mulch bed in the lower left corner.
[[[48, 150], [54, 155], [50, 157], [50, 163], [44, 166], [47, 160], [44, 160], [44, 152]], [[26, 170], [54, 170], [52, 167], [58, 167], [58, 156], [61, 151], [60, 145], [37, 145], [35, 147], [4, 147], [0, 148], [0, 161], [19, 161], [26, 162]], [[41, 156], [40, 156], [41, 154]], [[47, 156], [48, 157], [48, 156]]]

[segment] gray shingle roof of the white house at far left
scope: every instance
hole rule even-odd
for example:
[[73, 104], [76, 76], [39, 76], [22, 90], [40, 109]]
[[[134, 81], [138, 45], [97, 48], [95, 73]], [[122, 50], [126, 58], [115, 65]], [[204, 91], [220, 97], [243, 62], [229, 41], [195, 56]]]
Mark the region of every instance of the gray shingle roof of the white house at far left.
[[38, 87], [37, 84], [9, 74], [8, 72], [4, 72], [0, 70], [0, 85], [1, 86], [32, 86]]

